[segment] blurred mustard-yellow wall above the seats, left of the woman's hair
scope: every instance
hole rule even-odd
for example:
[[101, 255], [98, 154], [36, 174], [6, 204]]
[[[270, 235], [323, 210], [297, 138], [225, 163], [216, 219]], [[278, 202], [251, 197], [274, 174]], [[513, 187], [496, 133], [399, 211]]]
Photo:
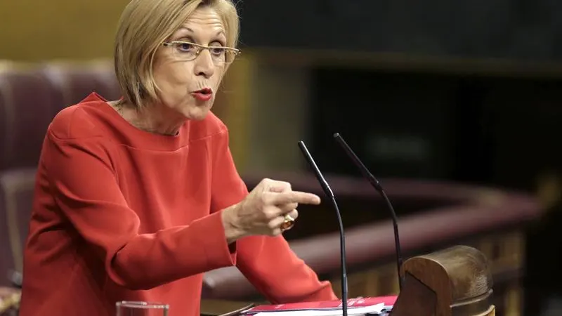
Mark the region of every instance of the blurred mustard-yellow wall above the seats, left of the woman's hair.
[[0, 42], [4, 44], [0, 59], [108, 58], [117, 20], [128, 2], [0, 1], [0, 20], [3, 26], [9, 26], [0, 27]]

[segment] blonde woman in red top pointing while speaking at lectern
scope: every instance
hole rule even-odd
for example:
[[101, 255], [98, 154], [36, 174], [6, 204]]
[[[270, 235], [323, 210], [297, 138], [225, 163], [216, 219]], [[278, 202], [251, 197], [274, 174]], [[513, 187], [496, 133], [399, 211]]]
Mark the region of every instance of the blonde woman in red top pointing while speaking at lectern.
[[114, 315], [157, 301], [199, 315], [202, 273], [236, 265], [273, 302], [336, 299], [281, 233], [320, 198], [263, 180], [249, 194], [211, 112], [237, 55], [229, 0], [133, 0], [119, 22], [123, 98], [60, 112], [39, 162], [21, 316]]

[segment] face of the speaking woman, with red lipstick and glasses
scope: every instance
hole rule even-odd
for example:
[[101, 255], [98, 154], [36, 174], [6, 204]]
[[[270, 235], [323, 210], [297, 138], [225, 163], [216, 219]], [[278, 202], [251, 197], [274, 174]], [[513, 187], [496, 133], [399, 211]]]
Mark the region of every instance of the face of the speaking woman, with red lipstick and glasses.
[[[202, 46], [226, 46], [226, 31], [213, 8], [200, 7], [167, 41]], [[193, 58], [197, 46], [173, 44], [156, 53], [154, 78], [166, 112], [181, 119], [204, 119], [214, 103], [226, 70], [220, 49], [204, 49]], [[171, 110], [171, 111], [170, 111]]]

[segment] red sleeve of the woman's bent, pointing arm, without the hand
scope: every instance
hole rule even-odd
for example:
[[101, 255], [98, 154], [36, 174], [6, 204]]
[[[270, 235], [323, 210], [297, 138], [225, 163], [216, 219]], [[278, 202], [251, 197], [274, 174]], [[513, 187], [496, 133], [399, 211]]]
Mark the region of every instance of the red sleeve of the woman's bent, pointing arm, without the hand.
[[61, 133], [48, 131], [41, 154], [51, 194], [105, 262], [113, 282], [150, 289], [235, 264], [235, 243], [229, 247], [227, 238], [235, 239], [236, 233], [225, 232], [222, 211], [190, 225], [139, 234], [140, 220], [117, 184], [110, 146], [96, 136], [62, 139], [55, 134]]

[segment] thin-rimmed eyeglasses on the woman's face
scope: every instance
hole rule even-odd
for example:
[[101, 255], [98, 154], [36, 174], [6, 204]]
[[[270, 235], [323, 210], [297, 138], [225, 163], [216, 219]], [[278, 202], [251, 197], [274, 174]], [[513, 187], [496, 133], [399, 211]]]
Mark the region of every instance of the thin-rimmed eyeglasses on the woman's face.
[[162, 45], [171, 47], [172, 55], [180, 61], [194, 60], [202, 51], [208, 49], [215, 65], [229, 64], [241, 53], [240, 50], [232, 47], [204, 46], [189, 41], [164, 42]]

